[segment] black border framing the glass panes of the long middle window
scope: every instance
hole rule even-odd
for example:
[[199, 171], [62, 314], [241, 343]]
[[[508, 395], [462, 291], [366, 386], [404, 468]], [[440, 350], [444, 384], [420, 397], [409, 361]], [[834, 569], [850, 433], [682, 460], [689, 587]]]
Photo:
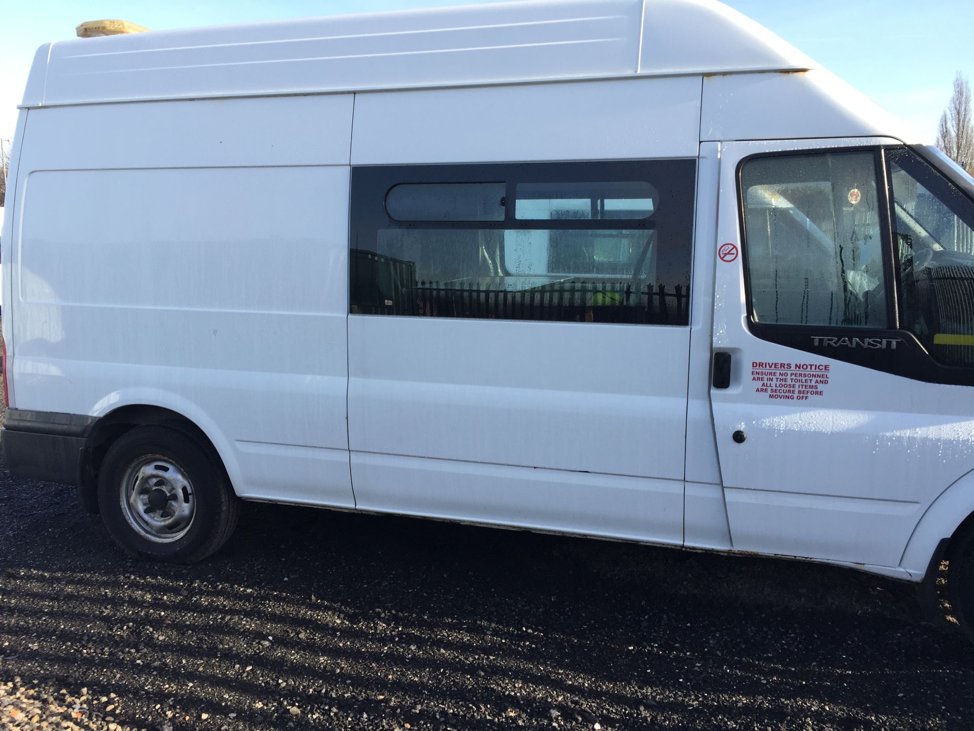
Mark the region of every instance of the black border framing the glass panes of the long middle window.
[[[618, 231], [656, 230], [658, 224], [673, 230], [685, 230], [685, 240], [659, 242], [656, 252], [656, 287], [665, 283], [668, 291], [680, 286], [685, 303], [676, 322], [649, 323], [689, 327], [691, 281], [693, 272], [693, 235], [696, 198], [695, 158], [674, 158], [636, 161], [557, 162], [557, 163], [477, 163], [451, 165], [354, 166], [351, 182], [351, 211], [349, 226], [350, 256], [355, 260], [366, 251], [365, 242], [375, 241], [378, 232], [393, 230], [591, 230]], [[645, 181], [657, 191], [666, 191], [666, 202], [650, 216], [643, 218], [599, 219], [521, 219], [515, 218], [515, 196], [518, 183], [538, 182], [605, 182]], [[395, 185], [406, 183], [481, 183], [506, 184], [505, 217], [497, 221], [398, 221], [386, 210], [386, 197]], [[670, 184], [672, 181], [672, 185]], [[666, 187], [663, 186], [666, 184]], [[672, 193], [670, 193], [670, 189]], [[667, 211], [667, 207], [672, 210]], [[682, 229], [681, 229], [682, 227]], [[358, 246], [361, 241], [363, 246]], [[355, 277], [355, 261], [350, 261], [350, 283]], [[350, 314], [354, 312], [353, 291], [349, 291]], [[392, 315], [410, 317], [410, 315]], [[468, 318], [465, 318], [468, 319]], [[519, 322], [569, 322], [524, 319]]]

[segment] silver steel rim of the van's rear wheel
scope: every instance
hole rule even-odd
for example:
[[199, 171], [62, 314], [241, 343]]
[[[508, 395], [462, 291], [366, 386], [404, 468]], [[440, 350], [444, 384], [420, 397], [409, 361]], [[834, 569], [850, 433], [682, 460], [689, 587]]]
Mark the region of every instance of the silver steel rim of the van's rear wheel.
[[174, 462], [159, 455], [132, 462], [119, 485], [119, 502], [131, 528], [155, 543], [178, 541], [196, 517], [192, 482]]

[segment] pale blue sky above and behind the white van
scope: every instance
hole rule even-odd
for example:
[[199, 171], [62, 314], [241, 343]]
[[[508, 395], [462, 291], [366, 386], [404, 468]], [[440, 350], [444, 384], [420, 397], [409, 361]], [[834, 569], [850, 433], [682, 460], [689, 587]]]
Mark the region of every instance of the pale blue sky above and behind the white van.
[[[478, 0], [483, 2], [483, 0]], [[488, 0], [490, 1], [490, 0]], [[954, 74], [974, 76], [974, 0], [726, 0], [932, 140]], [[464, 5], [464, 0], [8, 0], [0, 24], [0, 137], [13, 134], [34, 51], [83, 20], [150, 28]]]

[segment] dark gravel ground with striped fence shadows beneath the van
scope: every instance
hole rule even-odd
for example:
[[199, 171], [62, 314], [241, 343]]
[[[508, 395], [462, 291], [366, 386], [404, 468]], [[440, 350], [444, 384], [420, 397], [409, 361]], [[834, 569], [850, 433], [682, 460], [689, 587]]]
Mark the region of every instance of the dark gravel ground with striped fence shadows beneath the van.
[[157, 565], [2, 469], [0, 518], [0, 727], [974, 727], [955, 625], [843, 569], [259, 504]]

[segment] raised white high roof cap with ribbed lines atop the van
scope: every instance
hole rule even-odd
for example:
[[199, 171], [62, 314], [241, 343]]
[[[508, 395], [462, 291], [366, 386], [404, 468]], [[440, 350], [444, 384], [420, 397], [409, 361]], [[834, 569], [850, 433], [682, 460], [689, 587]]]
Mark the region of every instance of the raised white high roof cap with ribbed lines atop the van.
[[535, 0], [59, 41], [23, 106], [813, 65], [716, 0]]

